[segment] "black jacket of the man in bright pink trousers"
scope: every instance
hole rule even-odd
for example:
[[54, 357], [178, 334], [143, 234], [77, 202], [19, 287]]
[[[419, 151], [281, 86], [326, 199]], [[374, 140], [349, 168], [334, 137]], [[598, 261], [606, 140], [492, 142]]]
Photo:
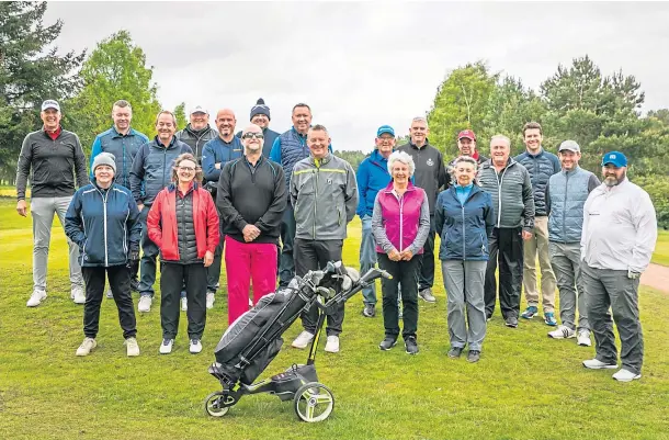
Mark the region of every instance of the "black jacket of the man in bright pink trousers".
[[253, 225], [260, 236], [252, 242], [279, 244], [281, 221], [288, 192], [283, 169], [261, 156], [256, 167], [245, 157], [223, 167], [216, 192], [216, 207], [225, 223], [223, 233], [240, 242], [242, 229]]

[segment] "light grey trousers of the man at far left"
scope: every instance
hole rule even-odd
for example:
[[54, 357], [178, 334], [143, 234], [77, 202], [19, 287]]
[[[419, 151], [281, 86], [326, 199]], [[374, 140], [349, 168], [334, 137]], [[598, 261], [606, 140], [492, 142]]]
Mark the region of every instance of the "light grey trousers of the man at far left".
[[[65, 227], [65, 214], [72, 196], [31, 199], [31, 217], [33, 217], [33, 289], [46, 290], [46, 266], [52, 240], [54, 214]], [[69, 267], [71, 287], [83, 289], [83, 277], [79, 267], [79, 246], [67, 238], [69, 247]]]

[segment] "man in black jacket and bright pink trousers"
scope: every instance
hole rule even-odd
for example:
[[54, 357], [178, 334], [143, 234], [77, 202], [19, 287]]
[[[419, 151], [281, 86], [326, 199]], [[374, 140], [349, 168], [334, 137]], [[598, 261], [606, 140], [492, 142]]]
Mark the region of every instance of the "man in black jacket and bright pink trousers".
[[262, 128], [250, 125], [241, 142], [245, 156], [220, 170], [216, 206], [223, 218], [228, 280], [228, 324], [276, 286], [279, 233], [286, 207], [286, 182], [281, 165], [262, 155]]

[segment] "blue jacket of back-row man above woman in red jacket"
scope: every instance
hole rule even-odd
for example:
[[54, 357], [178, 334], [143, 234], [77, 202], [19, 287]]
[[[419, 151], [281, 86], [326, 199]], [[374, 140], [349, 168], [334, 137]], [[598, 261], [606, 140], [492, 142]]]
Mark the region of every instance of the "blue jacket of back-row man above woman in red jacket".
[[131, 190], [137, 204], [154, 203], [156, 195], [172, 181], [174, 159], [183, 153], [193, 150], [173, 136], [167, 148], [158, 136], [139, 148], [131, 171]]

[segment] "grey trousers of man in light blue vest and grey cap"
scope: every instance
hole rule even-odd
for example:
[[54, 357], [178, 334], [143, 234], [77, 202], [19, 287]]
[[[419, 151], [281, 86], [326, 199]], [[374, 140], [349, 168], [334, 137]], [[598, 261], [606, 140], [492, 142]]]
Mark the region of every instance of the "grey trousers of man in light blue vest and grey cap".
[[563, 326], [576, 330], [576, 313], [578, 311], [578, 329], [589, 330], [586, 290], [583, 289], [580, 268], [580, 244], [551, 241], [548, 250], [551, 252], [551, 264], [557, 278], [559, 319]]

